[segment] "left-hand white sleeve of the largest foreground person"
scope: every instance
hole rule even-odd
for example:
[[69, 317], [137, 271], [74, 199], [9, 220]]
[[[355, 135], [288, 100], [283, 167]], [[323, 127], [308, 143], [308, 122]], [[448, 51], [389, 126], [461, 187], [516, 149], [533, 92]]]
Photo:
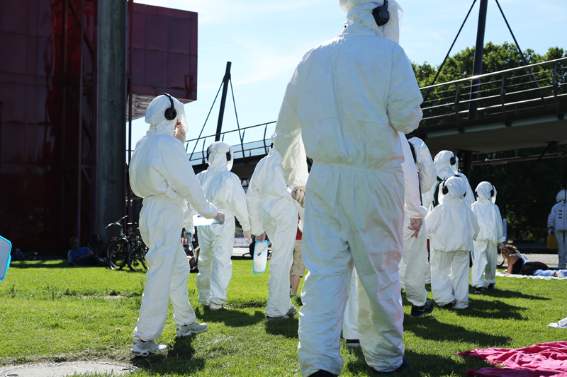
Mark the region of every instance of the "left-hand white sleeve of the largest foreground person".
[[293, 72], [283, 95], [283, 101], [276, 122], [276, 142], [274, 148], [281, 155], [283, 178], [291, 187], [304, 186], [307, 183], [307, 157], [301, 139], [301, 124], [297, 114], [297, 75]]

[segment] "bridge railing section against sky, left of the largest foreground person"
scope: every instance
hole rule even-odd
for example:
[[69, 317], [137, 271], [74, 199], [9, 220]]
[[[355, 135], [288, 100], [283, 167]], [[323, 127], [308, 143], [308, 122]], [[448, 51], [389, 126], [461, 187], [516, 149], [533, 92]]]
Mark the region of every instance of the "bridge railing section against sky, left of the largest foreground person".
[[[220, 141], [232, 146], [234, 159], [262, 156], [270, 149], [270, 137], [276, 129], [276, 122], [256, 124], [233, 129], [220, 134]], [[186, 141], [185, 150], [191, 165], [207, 162], [207, 148], [215, 141], [215, 134]]]

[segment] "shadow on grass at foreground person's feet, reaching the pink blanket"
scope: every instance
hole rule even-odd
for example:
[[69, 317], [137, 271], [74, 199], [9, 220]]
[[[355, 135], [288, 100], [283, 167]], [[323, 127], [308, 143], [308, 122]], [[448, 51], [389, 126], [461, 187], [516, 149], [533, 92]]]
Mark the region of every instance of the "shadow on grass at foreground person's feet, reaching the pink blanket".
[[[343, 372], [348, 371], [353, 376], [372, 376], [371, 367], [366, 364], [361, 349], [352, 349], [350, 352], [357, 357], [347, 361]], [[417, 354], [406, 350], [404, 359], [410, 362], [410, 368], [405, 371], [391, 373], [392, 376], [465, 376], [467, 369], [481, 369], [490, 366], [486, 361], [478, 358], [465, 358], [464, 363], [436, 354]], [[390, 374], [390, 373], [388, 373]]]

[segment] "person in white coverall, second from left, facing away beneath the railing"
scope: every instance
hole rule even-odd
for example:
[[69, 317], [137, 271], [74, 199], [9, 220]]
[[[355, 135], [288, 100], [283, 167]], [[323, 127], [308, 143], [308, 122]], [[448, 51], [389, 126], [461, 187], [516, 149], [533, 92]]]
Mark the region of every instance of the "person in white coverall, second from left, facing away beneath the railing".
[[223, 226], [201, 226], [199, 229], [199, 253], [197, 289], [199, 302], [212, 311], [223, 308], [232, 277], [232, 249], [235, 243], [235, 216], [246, 242], [250, 239], [250, 223], [245, 192], [240, 178], [231, 173], [234, 153], [223, 141], [215, 141], [207, 149], [208, 169], [198, 173], [209, 202], [225, 214]]

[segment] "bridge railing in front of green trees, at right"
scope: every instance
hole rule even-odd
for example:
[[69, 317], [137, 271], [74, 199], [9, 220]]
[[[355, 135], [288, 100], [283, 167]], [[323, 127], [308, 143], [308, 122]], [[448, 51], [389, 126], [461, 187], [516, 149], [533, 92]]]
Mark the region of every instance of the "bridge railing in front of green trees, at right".
[[[426, 86], [421, 88], [420, 132], [450, 128], [464, 132], [465, 126], [487, 122], [510, 126], [512, 120], [527, 115], [563, 117], [566, 88], [567, 58]], [[471, 99], [474, 94], [478, 98]], [[473, 101], [478, 119], [469, 120]]]

